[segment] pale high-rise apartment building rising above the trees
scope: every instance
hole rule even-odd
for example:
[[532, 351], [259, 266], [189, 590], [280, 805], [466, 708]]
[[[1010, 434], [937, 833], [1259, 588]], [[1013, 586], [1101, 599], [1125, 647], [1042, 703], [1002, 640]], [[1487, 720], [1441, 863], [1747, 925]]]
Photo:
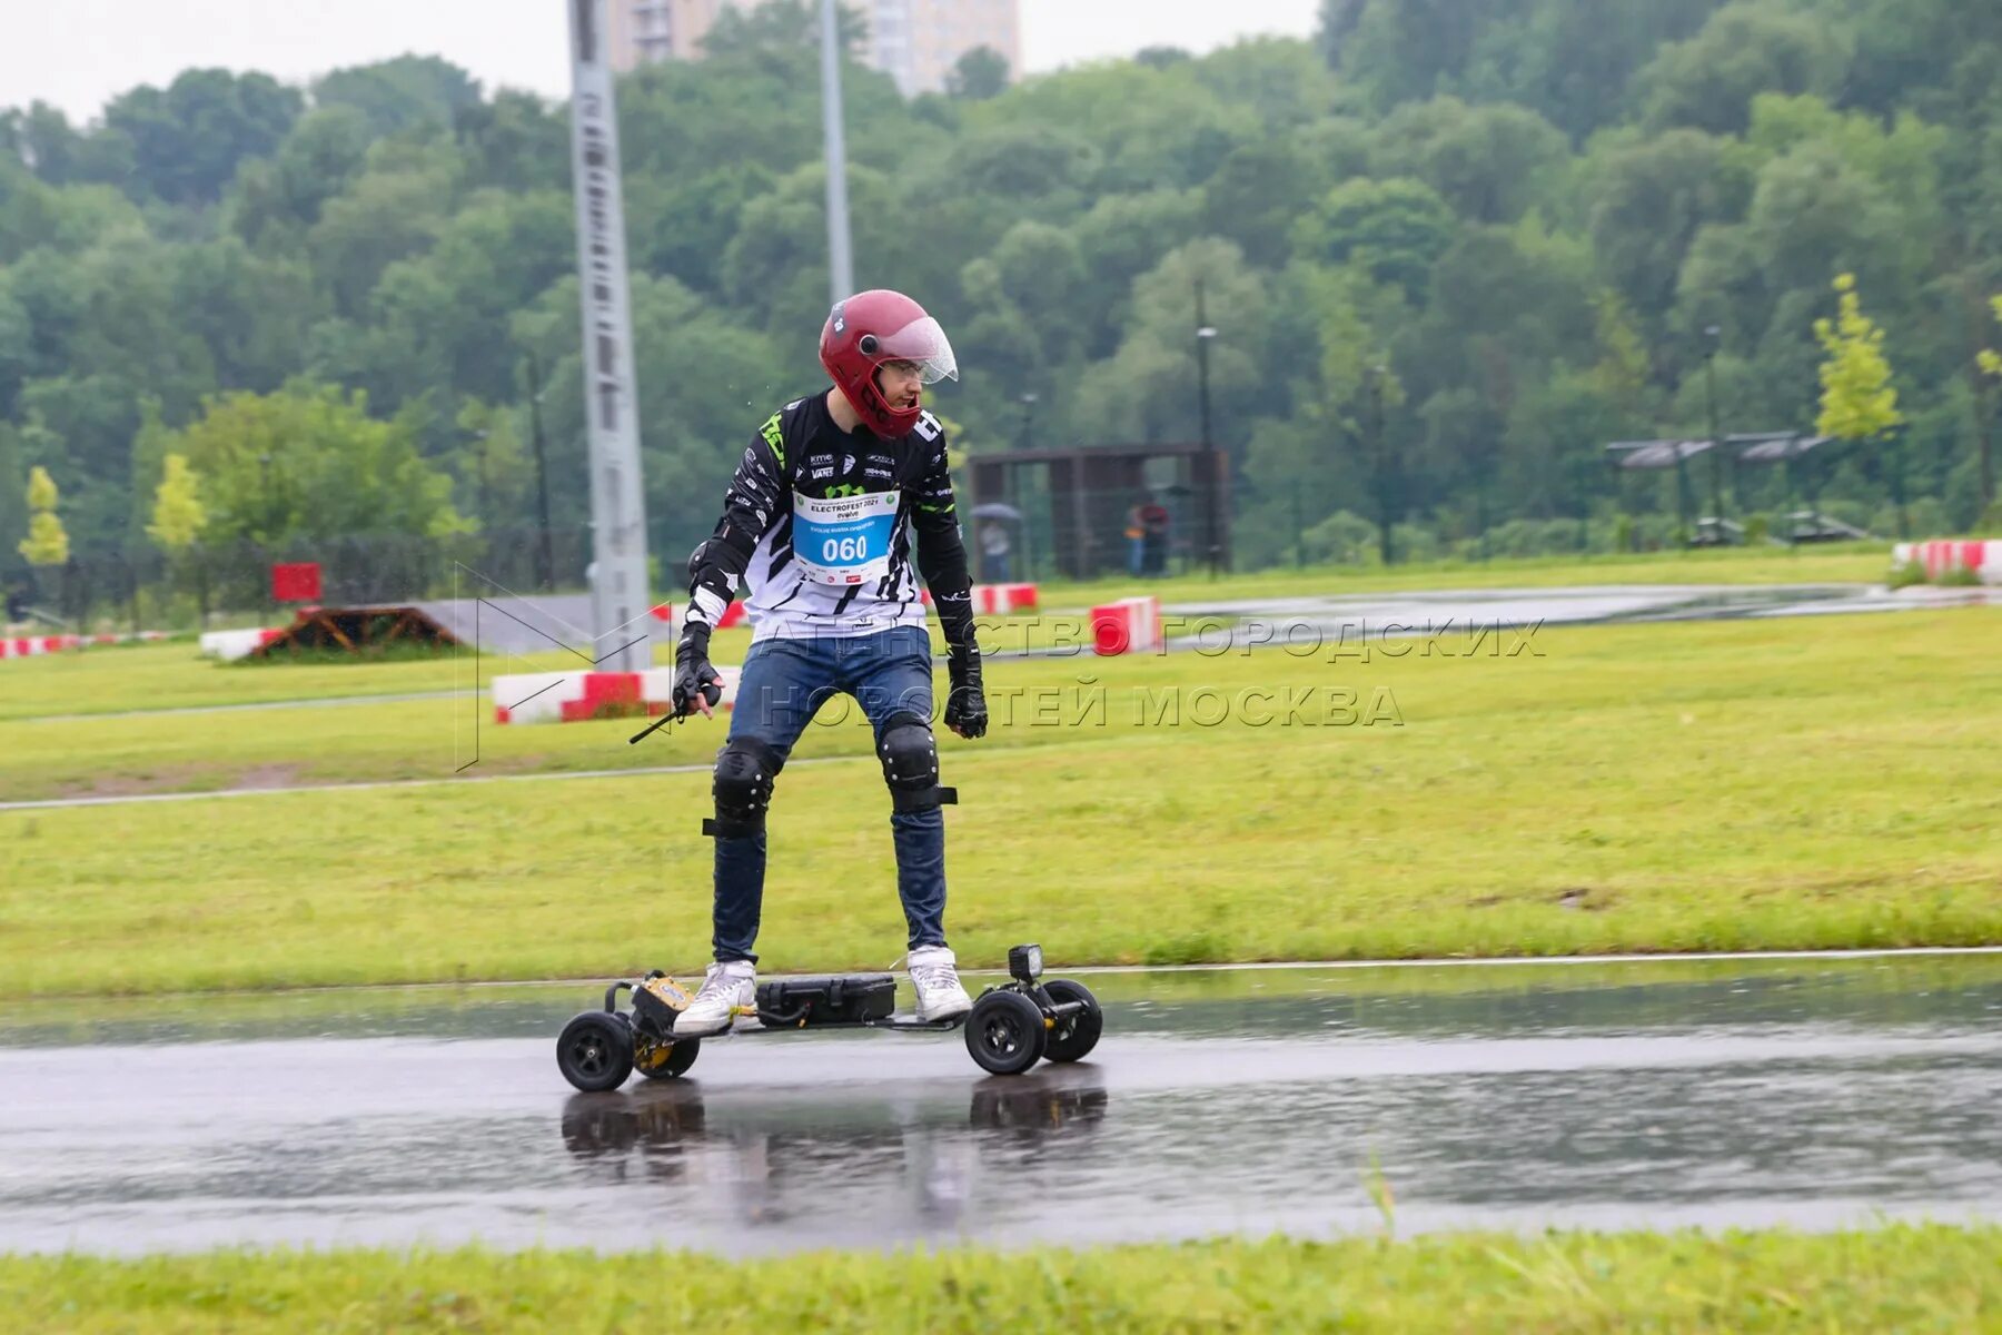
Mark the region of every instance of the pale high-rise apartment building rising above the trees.
[[[759, 0], [611, 0], [615, 70], [653, 60], [701, 60], [703, 38], [727, 8]], [[903, 96], [943, 92], [945, 76], [975, 46], [991, 46], [1021, 72], [1017, 0], [849, 0], [869, 20], [863, 60], [883, 70]]]

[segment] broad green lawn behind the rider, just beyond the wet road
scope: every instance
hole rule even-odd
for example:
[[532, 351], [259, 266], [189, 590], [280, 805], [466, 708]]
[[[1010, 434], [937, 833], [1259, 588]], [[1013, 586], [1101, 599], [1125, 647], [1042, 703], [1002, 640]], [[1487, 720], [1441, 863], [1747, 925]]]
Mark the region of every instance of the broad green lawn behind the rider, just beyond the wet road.
[[[1996, 943], [1996, 642], [1994, 614], [1968, 608], [1546, 630], [1540, 656], [1007, 664], [993, 735], [943, 739], [963, 795], [949, 925], [969, 963], [1031, 937], [1063, 963]], [[1103, 713], [1079, 709], [1099, 689]], [[1199, 727], [1201, 691], [1315, 707]], [[1353, 693], [1347, 715], [1333, 691]], [[1179, 727], [1163, 699], [1189, 703]], [[1365, 725], [1371, 701], [1393, 717]], [[208, 755], [436, 775], [450, 709], [4, 737], [52, 765], [72, 747], [108, 767]], [[659, 747], [627, 747], [631, 731], [488, 737], [521, 739], [496, 769], [701, 767], [723, 727]], [[779, 971], [883, 967], [903, 933], [869, 735], [817, 725], [797, 755], [761, 951]], [[697, 769], [0, 813], [0, 993], [695, 969], [707, 811]]]

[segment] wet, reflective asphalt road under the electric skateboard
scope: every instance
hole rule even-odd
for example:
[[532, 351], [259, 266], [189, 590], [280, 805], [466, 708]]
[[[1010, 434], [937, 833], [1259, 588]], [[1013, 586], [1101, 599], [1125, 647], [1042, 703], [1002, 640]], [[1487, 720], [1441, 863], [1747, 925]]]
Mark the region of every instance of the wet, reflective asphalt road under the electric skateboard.
[[0, 1011], [0, 1251], [2002, 1217], [2002, 955], [1081, 977], [1075, 1067], [767, 1035], [611, 1095], [577, 985]]

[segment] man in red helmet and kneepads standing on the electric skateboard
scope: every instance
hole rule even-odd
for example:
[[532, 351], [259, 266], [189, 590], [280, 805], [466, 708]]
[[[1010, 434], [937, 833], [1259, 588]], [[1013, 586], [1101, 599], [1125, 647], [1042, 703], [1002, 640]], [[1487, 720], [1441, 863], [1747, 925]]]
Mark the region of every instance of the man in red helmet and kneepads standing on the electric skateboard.
[[[815, 711], [835, 693], [861, 703], [891, 797], [897, 895], [909, 927], [905, 967], [917, 1017], [945, 1021], [973, 1001], [945, 943], [945, 817], [931, 735], [931, 636], [919, 576], [945, 632], [945, 727], [987, 733], [973, 596], [959, 536], [945, 432], [923, 386], [959, 378], [939, 322], [901, 292], [861, 292], [821, 330], [833, 388], [797, 398], [753, 436], [723, 500], [723, 520], [689, 556], [689, 612], [675, 650], [675, 713], [721, 701], [709, 636], [749, 588], [745, 654], [729, 741], [717, 753], [715, 963], [675, 1035], [729, 1029], [757, 1005], [765, 811], [773, 781]], [[913, 552], [913, 536], [917, 540]]]

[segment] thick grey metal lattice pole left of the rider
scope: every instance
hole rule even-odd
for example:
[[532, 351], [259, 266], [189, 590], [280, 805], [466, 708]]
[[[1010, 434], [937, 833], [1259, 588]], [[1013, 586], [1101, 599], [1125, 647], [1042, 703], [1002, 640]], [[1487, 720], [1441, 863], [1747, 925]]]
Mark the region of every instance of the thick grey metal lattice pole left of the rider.
[[571, 0], [571, 172], [591, 458], [591, 632], [597, 666], [643, 673], [653, 666], [645, 626], [653, 594], [647, 584], [619, 116], [605, 50], [605, 4]]

